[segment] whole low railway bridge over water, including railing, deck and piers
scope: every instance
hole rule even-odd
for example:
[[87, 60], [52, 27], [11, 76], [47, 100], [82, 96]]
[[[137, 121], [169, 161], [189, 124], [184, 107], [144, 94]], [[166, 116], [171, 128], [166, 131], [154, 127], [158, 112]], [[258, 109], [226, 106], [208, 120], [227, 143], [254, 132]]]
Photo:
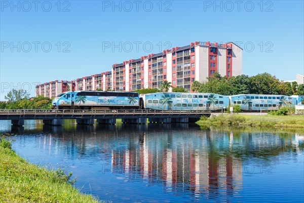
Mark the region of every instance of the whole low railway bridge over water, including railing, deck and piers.
[[0, 110], [0, 120], [11, 120], [13, 125], [22, 126], [24, 120], [43, 120], [45, 125], [62, 125], [64, 119], [76, 119], [78, 124], [196, 122], [201, 116], [209, 117], [210, 111], [193, 110]]

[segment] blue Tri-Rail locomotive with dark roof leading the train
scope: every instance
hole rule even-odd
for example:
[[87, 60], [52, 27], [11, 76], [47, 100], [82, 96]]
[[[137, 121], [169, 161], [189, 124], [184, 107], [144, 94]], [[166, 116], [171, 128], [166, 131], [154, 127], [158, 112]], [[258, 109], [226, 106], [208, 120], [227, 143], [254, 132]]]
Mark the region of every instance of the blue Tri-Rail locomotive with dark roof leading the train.
[[56, 96], [54, 109], [139, 109], [136, 92], [69, 91]]

